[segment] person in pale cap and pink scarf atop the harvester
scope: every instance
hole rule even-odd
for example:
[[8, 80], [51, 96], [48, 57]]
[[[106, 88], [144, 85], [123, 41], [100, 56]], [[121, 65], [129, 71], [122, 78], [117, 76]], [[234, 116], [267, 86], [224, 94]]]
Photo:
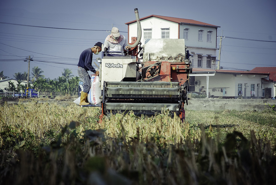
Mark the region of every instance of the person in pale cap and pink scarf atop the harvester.
[[[113, 27], [111, 34], [104, 40], [104, 51], [108, 51], [107, 56], [124, 56], [124, 51], [127, 51], [127, 39], [121, 35], [117, 27]], [[120, 51], [121, 53], [112, 53], [112, 51]]]

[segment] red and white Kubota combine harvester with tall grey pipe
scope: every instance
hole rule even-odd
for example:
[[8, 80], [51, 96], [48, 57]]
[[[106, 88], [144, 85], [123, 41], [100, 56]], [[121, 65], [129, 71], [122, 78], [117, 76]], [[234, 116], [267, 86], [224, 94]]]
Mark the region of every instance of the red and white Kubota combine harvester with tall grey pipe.
[[[141, 25], [135, 9], [138, 39], [125, 56], [106, 56], [99, 63], [101, 116], [133, 111], [136, 116], [152, 116], [169, 110], [185, 119], [188, 105], [189, 73], [192, 63], [184, 39], [150, 39], [140, 46]], [[138, 55], [141, 57], [139, 58]]]

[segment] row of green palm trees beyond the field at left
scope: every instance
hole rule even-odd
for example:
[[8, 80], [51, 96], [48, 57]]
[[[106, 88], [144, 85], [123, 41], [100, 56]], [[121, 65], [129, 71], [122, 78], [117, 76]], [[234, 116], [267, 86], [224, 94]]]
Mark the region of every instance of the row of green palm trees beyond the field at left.
[[[78, 92], [79, 87], [79, 77], [72, 75], [72, 71], [70, 69], [64, 69], [62, 72], [62, 76], [51, 80], [50, 78], [44, 78], [43, 72], [38, 66], [35, 66], [32, 69], [31, 75], [32, 78], [29, 77], [29, 88], [35, 89], [39, 92], [64, 92], [65, 94], [69, 95], [76, 95]], [[25, 92], [27, 88], [27, 84], [22, 84], [22, 81], [26, 81], [28, 74], [27, 72], [21, 73], [17, 72], [14, 73], [14, 78], [17, 80], [18, 84], [14, 84], [13, 82], [9, 81], [8, 88], [4, 90], [8, 92]], [[3, 71], [0, 72], [0, 77], [2, 79], [7, 79], [9, 77], [3, 74]], [[0, 91], [3, 92], [2, 89]]]

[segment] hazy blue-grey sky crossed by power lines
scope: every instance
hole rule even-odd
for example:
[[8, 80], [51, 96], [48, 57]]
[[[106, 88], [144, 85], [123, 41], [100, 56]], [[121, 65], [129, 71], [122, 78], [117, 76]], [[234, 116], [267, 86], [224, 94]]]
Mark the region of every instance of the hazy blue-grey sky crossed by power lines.
[[[128, 35], [124, 32], [128, 31], [128, 27], [125, 23], [135, 20], [135, 8], [138, 8], [140, 18], [155, 14], [193, 19], [219, 26], [217, 36], [221, 36], [223, 31], [225, 37], [241, 38], [222, 39], [220, 66], [223, 69], [251, 70], [255, 67], [276, 66], [275, 0], [156, 2], [1, 1], [0, 72], [3, 71], [10, 78], [14, 78], [14, 73], [27, 72], [28, 62], [24, 60], [30, 56], [33, 59], [30, 61], [30, 74], [31, 69], [38, 66], [45, 78], [55, 79], [62, 76], [64, 68], [71, 69], [72, 74], [78, 76], [76, 64], [80, 53], [93, 47], [96, 42], [104, 43], [107, 30], [110, 31], [112, 25], [118, 27], [127, 38]], [[218, 53], [217, 50], [217, 59]], [[96, 56], [100, 57], [101, 53]], [[93, 55], [93, 59], [95, 58]]]

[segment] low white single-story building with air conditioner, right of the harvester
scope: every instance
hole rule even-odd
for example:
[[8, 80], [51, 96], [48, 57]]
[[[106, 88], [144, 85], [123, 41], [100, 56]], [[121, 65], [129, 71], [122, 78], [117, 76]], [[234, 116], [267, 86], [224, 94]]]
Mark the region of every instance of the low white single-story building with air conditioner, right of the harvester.
[[268, 72], [193, 68], [189, 75], [189, 91], [205, 93], [209, 97], [261, 99], [265, 98], [262, 82], [268, 80], [269, 75]]

